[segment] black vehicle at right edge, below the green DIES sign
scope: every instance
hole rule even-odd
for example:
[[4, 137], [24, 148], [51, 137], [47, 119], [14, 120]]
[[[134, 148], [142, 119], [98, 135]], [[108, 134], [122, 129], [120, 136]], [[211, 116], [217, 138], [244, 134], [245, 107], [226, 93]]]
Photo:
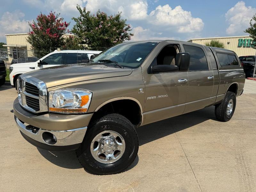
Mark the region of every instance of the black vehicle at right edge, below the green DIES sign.
[[253, 77], [256, 56], [254, 56], [254, 55], [241, 56], [241, 57], [239, 57], [239, 60], [241, 61], [241, 64], [244, 68], [245, 76]]

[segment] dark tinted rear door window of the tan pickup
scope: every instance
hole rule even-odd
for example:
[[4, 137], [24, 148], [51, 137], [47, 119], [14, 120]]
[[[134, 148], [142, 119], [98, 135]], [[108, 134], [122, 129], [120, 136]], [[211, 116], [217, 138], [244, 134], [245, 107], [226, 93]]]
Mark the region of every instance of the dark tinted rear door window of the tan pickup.
[[208, 63], [204, 51], [195, 46], [183, 45], [185, 52], [190, 54], [189, 70], [208, 70]]

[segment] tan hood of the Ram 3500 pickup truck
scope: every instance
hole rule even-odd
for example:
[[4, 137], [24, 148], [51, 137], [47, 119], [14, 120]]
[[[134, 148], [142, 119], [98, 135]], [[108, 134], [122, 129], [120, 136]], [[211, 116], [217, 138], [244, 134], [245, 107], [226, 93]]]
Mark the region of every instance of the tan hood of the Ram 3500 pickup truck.
[[26, 73], [43, 81], [47, 88], [108, 77], [127, 76], [132, 69], [106, 66], [102, 63], [60, 65]]

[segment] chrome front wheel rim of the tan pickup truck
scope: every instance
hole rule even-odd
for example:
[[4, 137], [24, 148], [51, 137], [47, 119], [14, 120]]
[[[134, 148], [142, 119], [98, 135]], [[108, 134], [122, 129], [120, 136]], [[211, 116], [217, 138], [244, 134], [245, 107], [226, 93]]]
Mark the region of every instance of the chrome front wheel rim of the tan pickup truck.
[[118, 132], [103, 131], [93, 138], [90, 149], [95, 160], [109, 164], [123, 156], [125, 141]]

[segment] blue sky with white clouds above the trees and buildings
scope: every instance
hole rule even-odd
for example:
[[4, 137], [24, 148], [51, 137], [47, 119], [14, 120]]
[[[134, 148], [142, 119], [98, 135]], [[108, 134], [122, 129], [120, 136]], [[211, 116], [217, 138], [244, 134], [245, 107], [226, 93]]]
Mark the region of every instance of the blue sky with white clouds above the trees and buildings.
[[76, 4], [92, 13], [98, 9], [122, 17], [132, 25], [133, 40], [240, 36], [256, 13], [256, 1], [166, 0], [0, 0], [0, 41], [4, 34], [28, 32], [28, 21], [40, 13], [60, 12], [65, 21], [78, 16]]

